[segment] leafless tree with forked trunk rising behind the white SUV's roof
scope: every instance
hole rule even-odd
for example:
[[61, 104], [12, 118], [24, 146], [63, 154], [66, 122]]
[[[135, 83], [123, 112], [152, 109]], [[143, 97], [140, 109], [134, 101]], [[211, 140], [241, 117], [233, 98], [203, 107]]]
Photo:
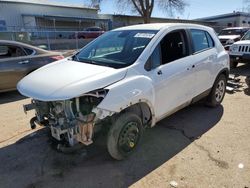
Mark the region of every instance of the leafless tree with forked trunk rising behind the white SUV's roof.
[[[132, 12], [137, 12], [143, 18], [144, 23], [149, 23], [155, 6], [163, 12], [173, 15], [173, 11], [182, 12], [187, 6], [185, 0], [115, 0], [122, 7], [127, 7]], [[106, 0], [91, 0], [92, 6], [99, 5]], [[110, 3], [110, 1], [109, 1]]]

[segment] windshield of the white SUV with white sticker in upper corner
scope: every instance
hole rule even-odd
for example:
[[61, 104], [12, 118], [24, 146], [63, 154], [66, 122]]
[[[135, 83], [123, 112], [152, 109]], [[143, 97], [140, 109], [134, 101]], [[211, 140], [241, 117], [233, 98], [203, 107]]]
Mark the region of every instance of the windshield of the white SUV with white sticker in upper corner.
[[133, 64], [156, 30], [110, 31], [73, 56], [74, 61], [123, 68]]

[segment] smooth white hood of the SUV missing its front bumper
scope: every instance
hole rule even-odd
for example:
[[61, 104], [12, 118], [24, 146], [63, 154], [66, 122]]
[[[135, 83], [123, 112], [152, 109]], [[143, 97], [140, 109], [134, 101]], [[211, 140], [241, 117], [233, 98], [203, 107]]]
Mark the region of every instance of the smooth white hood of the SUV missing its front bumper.
[[63, 59], [48, 64], [24, 77], [18, 91], [40, 101], [67, 100], [101, 89], [123, 79], [127, 69]]

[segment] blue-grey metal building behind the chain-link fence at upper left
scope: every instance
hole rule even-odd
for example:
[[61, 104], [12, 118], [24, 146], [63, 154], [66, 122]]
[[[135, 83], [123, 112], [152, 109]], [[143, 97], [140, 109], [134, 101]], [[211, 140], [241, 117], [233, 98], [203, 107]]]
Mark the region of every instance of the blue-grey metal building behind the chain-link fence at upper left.
[[1, 0], [0, 30], [73, 30], [99, 26], [109, 29], [109, 20], [98, 17], [98, 9], [39, 0]]

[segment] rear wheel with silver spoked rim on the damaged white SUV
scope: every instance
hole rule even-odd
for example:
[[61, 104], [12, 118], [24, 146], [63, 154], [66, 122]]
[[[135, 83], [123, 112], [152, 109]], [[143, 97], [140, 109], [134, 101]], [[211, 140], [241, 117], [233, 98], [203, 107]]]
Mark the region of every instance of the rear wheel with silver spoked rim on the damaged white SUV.
[[217, 77], [214, 82], [213, 88], [207, 98], [207, 105], [210, 107], [216, 107], [223, 101], [226, 93], [227, 79], [224, 74]]

